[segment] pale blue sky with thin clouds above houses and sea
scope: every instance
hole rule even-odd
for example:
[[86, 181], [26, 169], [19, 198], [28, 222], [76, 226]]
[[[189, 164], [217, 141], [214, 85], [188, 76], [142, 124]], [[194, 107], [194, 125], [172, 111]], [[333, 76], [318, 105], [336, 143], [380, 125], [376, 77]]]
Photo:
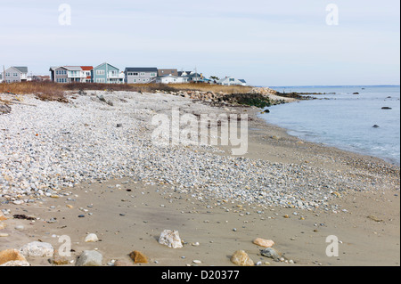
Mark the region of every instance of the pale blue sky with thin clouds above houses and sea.
[[399, 85], [399, 10], [398, 0], [0, 0], [0, 66], [48, 75], [108, 61], [250, 85]]

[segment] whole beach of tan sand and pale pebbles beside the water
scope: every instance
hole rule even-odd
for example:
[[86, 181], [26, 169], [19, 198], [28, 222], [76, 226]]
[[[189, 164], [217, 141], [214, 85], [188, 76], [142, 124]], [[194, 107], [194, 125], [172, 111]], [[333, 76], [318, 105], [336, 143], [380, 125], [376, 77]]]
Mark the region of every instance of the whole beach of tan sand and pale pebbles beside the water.
[[[105, 266], [231, 266], [237, 250], [259, 267], [400, 264], [399, 166], [300, 141], [256, 108], [167, 93], [71, 96], [27, 96], [0, 116], [0, 251], [41, 241], [57, 255], [68, 236], [64, 265], [85, 250], [100, 252]], [[151, 118], [173, 108], [248, 114], [248, 153], [154, 146]], [[166, 229], [179, 231], [184, 247], [161, 245]], [[89, 233], [99, 240], [86, 242]], [[328, 236], [340, 240], [339, 256], [326, 255]], [[257, 238], [273, 239], [282, 261], [262, 256]], [[149, 263], [134, 264], [135, 250]], [[52, 259], [26, 257], [33, 266]]]

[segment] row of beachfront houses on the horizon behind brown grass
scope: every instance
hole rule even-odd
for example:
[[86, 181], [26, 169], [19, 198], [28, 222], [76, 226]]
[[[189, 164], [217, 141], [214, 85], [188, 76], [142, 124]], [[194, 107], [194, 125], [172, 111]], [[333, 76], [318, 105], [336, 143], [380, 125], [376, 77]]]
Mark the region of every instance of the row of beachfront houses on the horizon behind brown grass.
[[[102, 83], [102, 84], [183, 84], [210, 83], [220, 85], [246, 85], [245, 80], [225, 77], [220, 80], [209, 79], [196, 71], [178, 71], [177, 69], [127, 67], [124, 71], [104, 62], [93, 66], [54, 66], [49, 69], [49, 79], [56, 83]], [[27, 67], [11, 67], [4, 72], [5, 81], [24, 82], [31, 78]], [[37, 77], [41, 80], [43, 77]], [[2, 77], [0, 77], [0, 82]]]

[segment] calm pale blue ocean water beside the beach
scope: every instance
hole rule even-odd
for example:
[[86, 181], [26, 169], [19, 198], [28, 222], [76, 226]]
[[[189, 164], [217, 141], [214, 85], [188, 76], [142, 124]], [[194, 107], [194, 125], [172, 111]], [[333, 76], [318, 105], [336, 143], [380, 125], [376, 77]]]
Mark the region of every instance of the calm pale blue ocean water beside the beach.
[[266, 108], [270, 113], [262, 116], [269, 124], [282, 126], [300, 139], [400, 164], [399, 85], [271, 88], [286, 93], [325, 94], [311, 95], [316, 100]]

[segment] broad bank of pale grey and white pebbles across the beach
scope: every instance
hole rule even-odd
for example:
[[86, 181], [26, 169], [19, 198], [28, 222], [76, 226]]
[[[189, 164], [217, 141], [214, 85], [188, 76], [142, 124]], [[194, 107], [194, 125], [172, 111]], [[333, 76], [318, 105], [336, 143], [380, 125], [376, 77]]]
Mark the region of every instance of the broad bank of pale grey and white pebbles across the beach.
[[222, 111], [170, 94], [88, 92], [75, 94], [69, 103], [34, 96], [24, 102], [0, 115], [3, 203], [58, 198], [79, 183], [123, 177], [169, 184], [171, 191], [199, 200], [300, 209], [338, 210], [330, 201], [341, 192], [376, 189], [358, 173], [225, 156], [211, 147], [160, 148], [151, 141], [154, 115], [173, 107], [188, 113]]

